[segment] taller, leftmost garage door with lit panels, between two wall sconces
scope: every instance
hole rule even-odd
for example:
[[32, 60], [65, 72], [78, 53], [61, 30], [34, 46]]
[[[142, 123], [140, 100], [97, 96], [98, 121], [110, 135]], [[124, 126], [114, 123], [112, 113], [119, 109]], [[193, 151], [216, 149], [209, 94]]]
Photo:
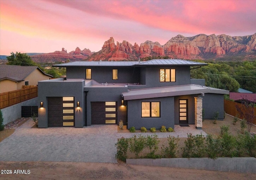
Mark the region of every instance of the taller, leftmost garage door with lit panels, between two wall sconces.
[[48, 97], [48, 127], [74, 126], [74, 97]]

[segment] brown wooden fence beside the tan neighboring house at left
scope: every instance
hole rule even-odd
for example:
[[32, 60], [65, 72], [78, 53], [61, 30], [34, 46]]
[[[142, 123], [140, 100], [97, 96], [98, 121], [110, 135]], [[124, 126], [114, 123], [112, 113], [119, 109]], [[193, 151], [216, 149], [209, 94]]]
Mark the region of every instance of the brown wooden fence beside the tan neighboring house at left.
[[37, 86], [0, 93], [0, 109], [18, 104], [38, 96]]

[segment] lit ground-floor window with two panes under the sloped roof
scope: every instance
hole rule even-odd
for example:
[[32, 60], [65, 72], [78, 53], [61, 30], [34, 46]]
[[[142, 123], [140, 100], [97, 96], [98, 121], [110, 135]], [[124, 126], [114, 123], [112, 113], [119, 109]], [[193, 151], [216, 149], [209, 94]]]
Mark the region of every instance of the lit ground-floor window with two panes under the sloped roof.
[[141, 117], [160, 117], [160, 102], [141, 102]]

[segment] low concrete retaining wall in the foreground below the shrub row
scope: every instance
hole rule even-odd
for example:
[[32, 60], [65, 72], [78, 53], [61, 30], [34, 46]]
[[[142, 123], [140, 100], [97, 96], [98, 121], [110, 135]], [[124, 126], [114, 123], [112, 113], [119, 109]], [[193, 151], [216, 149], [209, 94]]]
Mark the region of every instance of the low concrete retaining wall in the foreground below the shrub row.
[[126, 164], [256, 174], [254, 157], [126, 159]]

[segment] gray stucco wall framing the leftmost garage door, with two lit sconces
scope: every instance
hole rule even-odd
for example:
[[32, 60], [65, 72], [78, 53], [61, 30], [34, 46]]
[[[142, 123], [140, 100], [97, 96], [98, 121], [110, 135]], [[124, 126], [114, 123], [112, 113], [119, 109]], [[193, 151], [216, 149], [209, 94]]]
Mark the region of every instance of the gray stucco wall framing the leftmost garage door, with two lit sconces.
[[[73, 96], [75, 104], [75, 127], [84, 126], [84, 80], [68, 81], [60, 79], [46, 80], [38, 82], [38, 104], [44, 103], [43, 108], [38, 108], [38, 127], [48, 127], [48, 105], [47, 97]], [[80, 102], [80, 108], [76, 102]]]

